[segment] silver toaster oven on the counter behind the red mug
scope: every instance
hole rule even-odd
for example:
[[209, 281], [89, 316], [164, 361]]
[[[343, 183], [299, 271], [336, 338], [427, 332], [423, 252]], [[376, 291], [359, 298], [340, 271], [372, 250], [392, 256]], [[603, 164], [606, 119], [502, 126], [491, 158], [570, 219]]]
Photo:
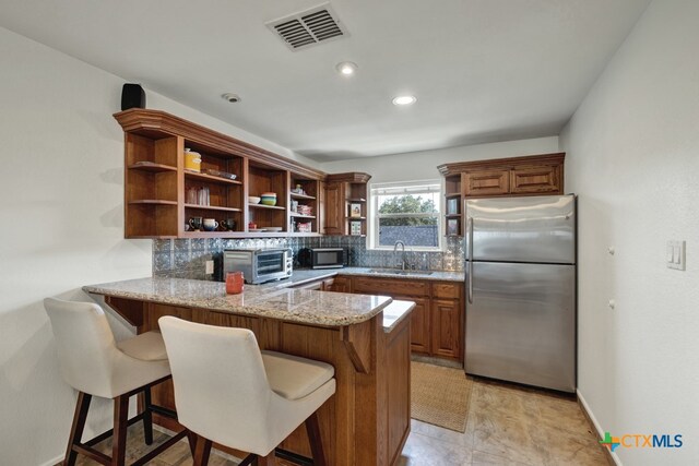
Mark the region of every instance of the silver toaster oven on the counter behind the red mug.
[[245, 283], [258, 285], [288, 278], [293, 273], [291, 248], [226, 249], [223, 252], [223, 278], [227, 272], [242, 272]]

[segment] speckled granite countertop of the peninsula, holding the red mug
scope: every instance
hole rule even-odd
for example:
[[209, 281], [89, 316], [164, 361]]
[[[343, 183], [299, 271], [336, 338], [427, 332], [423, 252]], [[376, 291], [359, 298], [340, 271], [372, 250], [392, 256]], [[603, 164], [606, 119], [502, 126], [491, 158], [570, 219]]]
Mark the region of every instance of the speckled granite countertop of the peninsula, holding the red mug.
[[[335, 273], [336, 271], [333, 271], [328, 276]], [[301, 274], [299, 274], [300, 278]], [[272, 285], [275, 284], [246, 285], [245, 292], [226, 295], [225, 284], [218, 282], [152, 277], [88, 285], [84, 286], [83, 290], [118, 298], [331, 327], [368, 321], [392, 301], [386, 296], [294, 289], [289, 288], [294, 285], [291, 282], [286, 284], [277, 282], [276, 286]]]

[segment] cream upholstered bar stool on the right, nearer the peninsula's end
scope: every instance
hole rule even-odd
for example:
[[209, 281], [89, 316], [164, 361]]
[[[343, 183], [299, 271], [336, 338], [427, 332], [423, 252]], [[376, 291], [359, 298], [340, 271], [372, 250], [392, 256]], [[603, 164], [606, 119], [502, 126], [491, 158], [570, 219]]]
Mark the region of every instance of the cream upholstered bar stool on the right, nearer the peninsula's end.
[[335, 393], [332, 366], [260, 351], [247, 328], [158, 323], [179, 422], [197, 435], [194, 465], [208, 464], [212, 441], [250, 453], [240, 466], [273, 465], [275, 447], [304, 422], [313, 464], [325, 464], [316, 410]]

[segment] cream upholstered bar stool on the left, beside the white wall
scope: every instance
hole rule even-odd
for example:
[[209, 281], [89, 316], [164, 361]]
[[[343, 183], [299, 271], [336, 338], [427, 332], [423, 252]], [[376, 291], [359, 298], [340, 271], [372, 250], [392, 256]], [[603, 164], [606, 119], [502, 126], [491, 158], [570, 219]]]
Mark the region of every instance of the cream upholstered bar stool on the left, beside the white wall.
[[[64, 465], [74, 465], [83, 454], [104, 465], [123, 465], [126, 461], [127, 427], [142, 420], [144, 440], [153, 443], [152, 414], [175, 417], [173, 411], [151, 404], [151, 386], [170, 377], [163, 337], [147, 332], [116, 343], [103, 309], [90, 302], [44, 300], [46, 313], [58, 346], [63, 379], [78, 390], [78, 404], [66, 452]], [[143, 392], [143, 413], [128, 419], [129, 397]], [[83, 430], [93, 396], [114, 399], [114, 429], [82, 443]], [[174, 445], [182, 431], [133, 463], [142, 465]], [[114, 435], [111, 457], [93, 446]]]

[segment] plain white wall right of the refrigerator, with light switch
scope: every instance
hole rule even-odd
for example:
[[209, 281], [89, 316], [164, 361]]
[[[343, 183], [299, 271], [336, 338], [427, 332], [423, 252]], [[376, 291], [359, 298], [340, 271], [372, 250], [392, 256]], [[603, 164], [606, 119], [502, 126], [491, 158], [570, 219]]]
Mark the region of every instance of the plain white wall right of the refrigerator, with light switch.
[[[618, 447], [626, 465], [699, 462], [698, 21], [696, 0], [654, 0], [561, 134], [580, 195], [579, 393], [603, 432], [685, 441]], [[665, 267], [671, 239], [685, 272]]]

